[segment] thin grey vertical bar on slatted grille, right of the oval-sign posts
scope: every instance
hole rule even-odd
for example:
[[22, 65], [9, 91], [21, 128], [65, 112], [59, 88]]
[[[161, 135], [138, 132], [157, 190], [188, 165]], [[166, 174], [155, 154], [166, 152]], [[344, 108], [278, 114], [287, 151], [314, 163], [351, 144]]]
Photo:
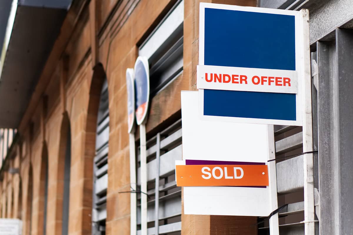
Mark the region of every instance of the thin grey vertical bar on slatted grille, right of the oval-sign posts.
[[156, 183], [155, 183], [155, 235], [159, 235], [159, 163], [161, 155], [161, 134], [157, 134], [157, 143], [156, 143]]

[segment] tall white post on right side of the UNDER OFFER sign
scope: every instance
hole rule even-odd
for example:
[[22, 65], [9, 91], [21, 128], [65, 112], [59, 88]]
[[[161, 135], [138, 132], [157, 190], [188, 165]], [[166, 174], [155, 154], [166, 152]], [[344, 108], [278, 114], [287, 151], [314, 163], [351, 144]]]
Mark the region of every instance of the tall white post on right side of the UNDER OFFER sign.
[[[312, 151], [312, 110], [311, 110], [311, 69], [310, 69], [310, 47], [309, 47], [309, 11], [302, 9], [304, 35], [304, 50], [301, 62], [302, 91], [303, 91], [303, 152]], [[315, 210], [314, 210], [314, 171], [313, 154], [307, 153], [304, 159], [304, 224], [305, 235], [315, 234]]]

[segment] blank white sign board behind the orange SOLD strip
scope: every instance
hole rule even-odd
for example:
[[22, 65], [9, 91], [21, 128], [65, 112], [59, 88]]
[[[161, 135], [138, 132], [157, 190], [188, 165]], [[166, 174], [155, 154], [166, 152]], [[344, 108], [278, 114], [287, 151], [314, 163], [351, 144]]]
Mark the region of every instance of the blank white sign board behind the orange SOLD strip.
[[[198, 92], [181, 92], [183, 161], [262, 163], [274, 157], [270, 125], [210, 122], [198, 116]], [[271, 132], [272, 131], [272, 132]], [[206, 163], [207, 162], [207, 163]], [[274, 162], [273, 162], [274, 163]], [[265, 187], [184, 187], [184, 213], [268, 216], [277, 208], [275, 165]], [[271, 193], [275, 193], [271, 197]]]

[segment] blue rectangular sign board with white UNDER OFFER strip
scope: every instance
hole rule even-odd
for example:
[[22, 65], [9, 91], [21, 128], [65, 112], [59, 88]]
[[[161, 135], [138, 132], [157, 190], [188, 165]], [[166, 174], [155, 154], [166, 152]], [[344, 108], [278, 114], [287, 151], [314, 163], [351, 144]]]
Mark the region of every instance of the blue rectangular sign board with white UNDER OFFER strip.
[[[298, 58], [304, 51], [298, 43], [298, 38], [303, 37], [298, 36], [303, 30], [298, 24], [300, 14], [200, 4], [198, 88], [203, 89], [200, 93], [202, 115], [238, 118], [234, 119], [236, 122], [241, 121], [239, 118], [247, 118], [241, 122], [251, 119], [253, 123], [267, 123], [260, 119], [270, 119], [268, 124], [284, 124], [273, 120], [289, 121], [287, 124], [292, 125], [301, 123], [298, 108], [300, 86], [285, 92], [281, 84], [269, 82], [283, 77], [291, 79], [294, 85], [300, 76]], [[212, 75], [215, 78], [210, 82]], [[220, 76], [223, 80], [216, 79]], [[240, 78], [243, 78], [243, 84]], [[258, 84], [253, 84], [255, 78], [264, 79], [264, 82], [254, 86]]]

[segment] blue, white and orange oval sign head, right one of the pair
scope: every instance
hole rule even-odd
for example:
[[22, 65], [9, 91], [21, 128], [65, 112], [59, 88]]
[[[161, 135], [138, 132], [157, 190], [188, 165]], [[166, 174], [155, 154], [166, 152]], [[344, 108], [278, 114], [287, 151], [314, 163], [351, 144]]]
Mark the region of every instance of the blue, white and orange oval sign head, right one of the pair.
[[146, 57], [139, 56], [137, 58], [134, 72], [136, 84], [136, 122], [140, 125], [146, 120], [150, 95], [149, 67]]

